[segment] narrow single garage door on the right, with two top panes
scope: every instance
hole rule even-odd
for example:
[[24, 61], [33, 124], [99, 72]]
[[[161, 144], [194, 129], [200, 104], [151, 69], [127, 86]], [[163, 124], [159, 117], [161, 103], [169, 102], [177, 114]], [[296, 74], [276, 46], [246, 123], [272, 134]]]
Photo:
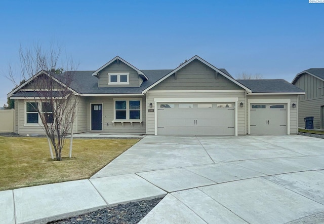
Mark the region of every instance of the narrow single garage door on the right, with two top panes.
[[258, 103], [250, 108], [251, 134], [287, 134], [287, 104]]

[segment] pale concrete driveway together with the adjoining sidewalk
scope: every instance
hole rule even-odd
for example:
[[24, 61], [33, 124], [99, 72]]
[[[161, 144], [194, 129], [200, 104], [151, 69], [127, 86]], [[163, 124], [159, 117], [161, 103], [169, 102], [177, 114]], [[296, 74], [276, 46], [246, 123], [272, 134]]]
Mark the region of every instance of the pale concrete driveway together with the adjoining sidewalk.
[[324, 140], [146, 136], [89, 180], [0, 192], [0, 223], [168, 194], [140, 223], [323, 223]]

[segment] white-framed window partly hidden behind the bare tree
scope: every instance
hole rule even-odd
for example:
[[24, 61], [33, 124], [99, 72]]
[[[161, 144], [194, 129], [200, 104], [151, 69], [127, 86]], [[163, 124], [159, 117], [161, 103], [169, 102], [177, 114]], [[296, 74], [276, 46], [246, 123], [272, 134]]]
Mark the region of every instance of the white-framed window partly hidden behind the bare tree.
[[[39, 108], [39, 106], [41, 106]], [[25, 125], [42, 125], [42, 119], [39, 117], [38, 108], [41, 114], [45, 116], [47, 123], [53, 123], [53, 105], [50, 102], [25, 102]]]

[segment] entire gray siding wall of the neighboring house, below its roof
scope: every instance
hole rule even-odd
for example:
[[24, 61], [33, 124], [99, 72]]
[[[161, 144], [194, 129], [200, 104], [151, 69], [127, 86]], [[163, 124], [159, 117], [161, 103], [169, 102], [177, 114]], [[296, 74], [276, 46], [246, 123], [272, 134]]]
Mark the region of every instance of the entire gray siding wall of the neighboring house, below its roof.
[[320, 106], [324, 105], [324, 82], [311, 76], [303, 74], [295, 83], [295, 86], [306, 92], [299, 96], [299, 127], [304, 128], [305, 117], [314, 117], [314, 128], [321, 127]]

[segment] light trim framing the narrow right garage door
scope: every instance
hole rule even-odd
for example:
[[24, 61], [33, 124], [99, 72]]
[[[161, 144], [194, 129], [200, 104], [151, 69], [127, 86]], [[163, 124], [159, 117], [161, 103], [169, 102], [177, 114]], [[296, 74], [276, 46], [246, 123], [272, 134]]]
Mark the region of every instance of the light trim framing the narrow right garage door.
[[287, 103], [287, 134], [290, 134], [290, 99], [248, 99], [248, 134], [251, 134], [251, 103]]

